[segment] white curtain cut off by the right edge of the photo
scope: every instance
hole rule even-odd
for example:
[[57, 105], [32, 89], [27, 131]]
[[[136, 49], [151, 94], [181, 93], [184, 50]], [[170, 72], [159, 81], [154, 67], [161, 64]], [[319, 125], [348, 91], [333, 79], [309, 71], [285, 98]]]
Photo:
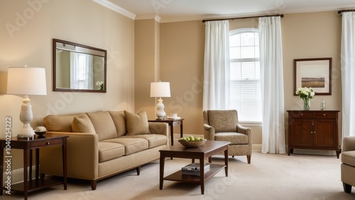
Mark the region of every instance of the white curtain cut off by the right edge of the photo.
[[355, 135], [355, 12], [342, 13], [342, 135]]

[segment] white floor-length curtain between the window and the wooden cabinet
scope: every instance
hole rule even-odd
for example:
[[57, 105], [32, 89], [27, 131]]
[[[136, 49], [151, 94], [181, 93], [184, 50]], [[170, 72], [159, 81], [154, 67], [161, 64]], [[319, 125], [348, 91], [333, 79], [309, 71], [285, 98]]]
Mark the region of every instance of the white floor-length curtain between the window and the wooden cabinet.
[[259, 18], [263, 153], [286, 153], [280, 17]]

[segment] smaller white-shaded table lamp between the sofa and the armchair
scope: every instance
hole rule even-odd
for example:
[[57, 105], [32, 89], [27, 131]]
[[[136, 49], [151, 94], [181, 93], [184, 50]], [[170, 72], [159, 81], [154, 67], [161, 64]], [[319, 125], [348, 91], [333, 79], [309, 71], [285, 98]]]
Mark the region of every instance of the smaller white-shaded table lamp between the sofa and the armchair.
[[158, 104], [156, 104], [156, 116], [158, 119], [165, 118], [163, 99], [161, 97], [170, 97], [169, 82], [152, 82], [151, 83], [151, 97], [159, 97]]

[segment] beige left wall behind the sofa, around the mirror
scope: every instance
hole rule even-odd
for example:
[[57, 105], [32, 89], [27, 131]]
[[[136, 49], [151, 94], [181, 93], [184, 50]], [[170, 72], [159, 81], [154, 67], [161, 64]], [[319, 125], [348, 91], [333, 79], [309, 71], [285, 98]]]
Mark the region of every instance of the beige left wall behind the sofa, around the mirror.
[[[22, 96], [6, 94], [11, 66], [44, 67], [47, 96], [30, 96], [32, 127], [48, 114], [134, 109], [134, 21], [87, 0], [0, 0], [0, 137], [5, 116], [12, 116], [12, 135], [21, 128]], [[21, 17], [20, 17], [21, 16]], [[14, 31], [8, 31], [12, 24]], [[108, 51], [107, 93], [52, 91], [52, 39], [68, 40]], [[22, 167], [22, 151], [13, 151], [12, 170]], [[16, 158], [15, 158], [16, 157]]]

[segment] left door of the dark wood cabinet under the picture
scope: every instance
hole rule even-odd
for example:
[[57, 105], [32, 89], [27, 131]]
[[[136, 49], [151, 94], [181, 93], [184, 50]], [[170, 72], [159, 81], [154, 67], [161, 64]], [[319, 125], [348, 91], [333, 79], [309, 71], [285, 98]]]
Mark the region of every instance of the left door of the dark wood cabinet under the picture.
[[290, 145], [298, 147], [312, 147], [312, 119], [295, 119], [290, 126]]

